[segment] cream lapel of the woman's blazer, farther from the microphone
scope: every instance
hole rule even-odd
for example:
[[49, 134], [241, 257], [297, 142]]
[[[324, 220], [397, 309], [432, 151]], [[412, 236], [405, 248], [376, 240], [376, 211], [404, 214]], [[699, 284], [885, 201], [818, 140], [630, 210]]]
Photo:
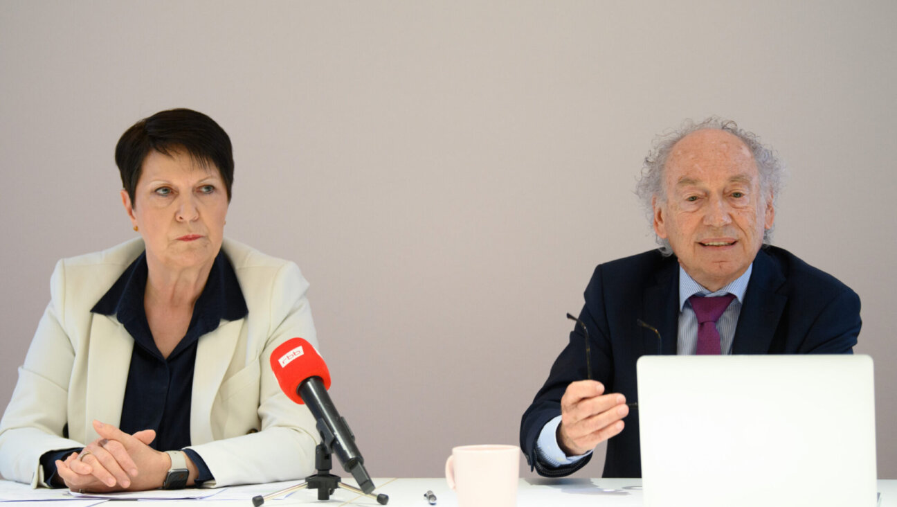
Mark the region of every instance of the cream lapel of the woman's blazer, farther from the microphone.
[[127, 372], [134, 352], [134, 338], [115, 317], [100, 314], [92, 317], [92, 343], [87, 354], [85, 442], [99, 437], [93, 430], [93, 419], [116, 427], [121, 422]]

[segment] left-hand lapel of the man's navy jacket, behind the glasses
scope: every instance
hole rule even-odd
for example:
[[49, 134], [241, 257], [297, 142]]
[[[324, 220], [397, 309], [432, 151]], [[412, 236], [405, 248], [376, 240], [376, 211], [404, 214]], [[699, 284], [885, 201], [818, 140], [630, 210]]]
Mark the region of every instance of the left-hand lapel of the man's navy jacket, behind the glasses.
[[[675, 257], [666, 258], [666, 265], [658, 270], [657, 284], [645, 289], [642, 317], [646, 324], [658, 328], [663, 354], [675, 354], [679, 329], [679, 263]], [[654, 331], [641, 328], [641, 339], [646, 354], [657, 354], [658, 336]]]

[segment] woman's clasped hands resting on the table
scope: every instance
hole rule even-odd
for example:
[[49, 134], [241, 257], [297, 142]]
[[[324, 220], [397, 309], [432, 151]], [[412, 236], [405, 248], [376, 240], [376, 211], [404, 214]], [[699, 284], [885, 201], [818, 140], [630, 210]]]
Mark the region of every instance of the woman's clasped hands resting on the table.
[[160, 487], [170, 467], [170, 458], [149, 444], [154, 430], [128, 434], [111, 424], [93, 421], [100, 438], [87, 444], [65, 461], [57, 459], [57, 476], [72, 491], [106, 493], [144, 491]]

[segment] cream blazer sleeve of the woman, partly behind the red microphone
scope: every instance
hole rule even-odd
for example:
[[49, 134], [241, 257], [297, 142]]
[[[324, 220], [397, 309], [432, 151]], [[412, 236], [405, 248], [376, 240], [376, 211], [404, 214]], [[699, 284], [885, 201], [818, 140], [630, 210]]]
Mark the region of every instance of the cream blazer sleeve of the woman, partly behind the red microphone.
[[299, 267], [292, 263], [285, 264], [274, 276], [270, 313], [266, 316], [270, 324], [257, 356], [261, 429], [190, 446], [213, 476], [203, 487], [290, 480], [313, 472], [319, 440], [314, 417], [306, 406], [293, 403], [283, 394], [269, 363], [274, 348], [292, 337], [303, 337], [318, 346], [306, 299], [308, 287]]

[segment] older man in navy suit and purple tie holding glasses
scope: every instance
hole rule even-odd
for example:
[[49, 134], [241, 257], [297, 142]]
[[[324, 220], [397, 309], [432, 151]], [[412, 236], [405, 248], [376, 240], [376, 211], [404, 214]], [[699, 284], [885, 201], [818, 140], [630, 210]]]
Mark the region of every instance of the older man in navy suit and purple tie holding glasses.
[[[569, 475], [606, 440], [604, 476], [641, 476], [638, 411], [626, 405], [637, 401], [641, 355], [852, 353], [857, 294], [769, 246], [781, 172], [775, 153], [731, 121], [687, 123], [658, 140], [638, 194], [661, 247], [595, 269], [583, 325], [523, 415], [531, 467]], [[585, 380], [582, 328], [595, 380]]]

